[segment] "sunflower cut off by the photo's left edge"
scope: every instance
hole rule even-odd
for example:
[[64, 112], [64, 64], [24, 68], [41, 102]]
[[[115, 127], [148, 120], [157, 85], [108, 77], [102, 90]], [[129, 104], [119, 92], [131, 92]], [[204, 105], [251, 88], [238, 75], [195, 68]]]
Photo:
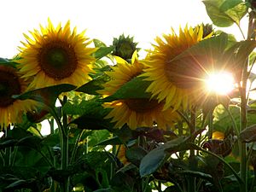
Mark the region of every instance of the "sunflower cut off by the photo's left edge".
[[22, 112], [35, 109], [32, 100], [16, 100], [12, 96], [20, 95], [27, 89], [27, 82], [20, 77], [15, 67], [0, 66], [0, 125], [8, 127], [10, 123], [20, 121]]

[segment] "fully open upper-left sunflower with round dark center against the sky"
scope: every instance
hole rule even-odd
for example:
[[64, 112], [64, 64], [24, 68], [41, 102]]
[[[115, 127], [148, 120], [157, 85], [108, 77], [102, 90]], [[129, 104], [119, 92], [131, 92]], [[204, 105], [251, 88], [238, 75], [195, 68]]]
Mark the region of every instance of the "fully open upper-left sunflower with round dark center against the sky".
[[30, 32], [32, 38], [24, 34], [27, 43], [20, 48], [20, 72], [28, 79], [33, 76], [31, 87], [42, 88], [55, 84], [82, 85], [90, 79], [96, 48], [88, 48], [91, 43], [84, 32], [71, 32], [70, 21], [64, 27], [55, 27], [48, 20], [48, 26], [40, 26], [40, 31]]

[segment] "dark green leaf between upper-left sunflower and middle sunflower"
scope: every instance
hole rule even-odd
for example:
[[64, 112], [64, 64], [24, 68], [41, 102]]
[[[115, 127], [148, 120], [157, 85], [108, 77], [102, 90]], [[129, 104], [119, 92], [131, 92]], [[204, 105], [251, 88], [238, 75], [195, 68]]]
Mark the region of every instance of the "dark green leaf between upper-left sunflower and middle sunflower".
[[104, 89], [102, 84], [105, 84], [106, 82], [108, 82], [108, 80], [109, 80], [108, 75], [104, 74], [102, 76], [96, 77], [96, 79], [92, 79], [86, 84], [83, 84], [78, 89], [76, 89], [76, 91], [84, 92], [90, 95], [99, 95], [97, 90]]

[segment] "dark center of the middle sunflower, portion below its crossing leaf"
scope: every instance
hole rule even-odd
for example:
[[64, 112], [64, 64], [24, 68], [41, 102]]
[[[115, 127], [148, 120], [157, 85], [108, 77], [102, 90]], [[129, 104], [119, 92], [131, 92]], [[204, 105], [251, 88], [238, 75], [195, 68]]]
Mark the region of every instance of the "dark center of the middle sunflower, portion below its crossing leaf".
[[156, 100], [149, 99], [125, 99], [124, 102], [128, 108], [137, 113], [145, 113], [160, 106]]

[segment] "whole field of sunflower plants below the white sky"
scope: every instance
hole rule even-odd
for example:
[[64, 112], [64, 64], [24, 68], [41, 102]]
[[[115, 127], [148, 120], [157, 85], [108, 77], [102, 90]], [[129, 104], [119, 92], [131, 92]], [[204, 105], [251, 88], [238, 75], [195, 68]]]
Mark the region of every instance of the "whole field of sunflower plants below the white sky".
[[145, 56], [69, 21], [24, 33], [0, 58], [0, 191], [256, 191], [256, 1], [202, 3], [212, 24], [156, 34]]

